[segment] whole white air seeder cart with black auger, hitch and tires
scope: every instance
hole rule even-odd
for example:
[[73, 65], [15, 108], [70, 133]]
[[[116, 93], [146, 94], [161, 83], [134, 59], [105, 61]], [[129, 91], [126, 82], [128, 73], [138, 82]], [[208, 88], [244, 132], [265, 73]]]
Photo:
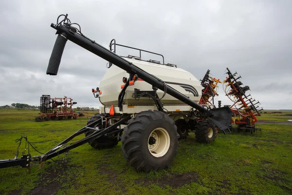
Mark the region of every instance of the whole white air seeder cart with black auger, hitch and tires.
[[[63, 20], [58, 22], [60, 17]], [[75, 27], [77, 26], [77, 28]], [[195, 130], [196, 138], [203, 143], [213, 141], [217, 126], [229, 127], [232, 112], [228, 107], [214, 109], [200, 105], [201, 85], [191, 73], [176, 65], [139, 57], [122, 57], [115, 52], [115, 40], [110, 50], [84, 36], [79, 24], [72, 23], [67, 15], [60, 15], [57, 24], [51, 24], [58, 35], [49, 61], [47, 74], [57, 75], [67, 40], [109, 61], [109, 69], [100, 86], [93, 90], [103, 104], [100, 113], [91, 117], [87, 126], [78, 130], [49, 152], [20, 159], [6, 159], [0, 167], [29, 166], [30, 161], [44, 161], [90, 143], [94, 148], [110, 148], [122, 141], [122, 152], [128, 163], [137, 171], [149, 172], [169, 167], [177, 154], [178, 139], [184, 129]], [[86, 137], [68, 144], [74, 137]]]

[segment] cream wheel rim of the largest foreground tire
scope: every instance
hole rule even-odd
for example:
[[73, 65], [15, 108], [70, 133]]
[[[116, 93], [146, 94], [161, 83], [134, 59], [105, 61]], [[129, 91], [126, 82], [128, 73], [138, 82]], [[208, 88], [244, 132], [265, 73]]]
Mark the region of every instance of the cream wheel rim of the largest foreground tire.
[[[155, 139], [155, 143], [149, 144], [150, 137]], [[152, 139], [152, 138], [151, 138]], [[170, 136], [164, 128], [156, 128], [148, 137], [148, 150], [152, 156], [164, 156], [170, 147]]]

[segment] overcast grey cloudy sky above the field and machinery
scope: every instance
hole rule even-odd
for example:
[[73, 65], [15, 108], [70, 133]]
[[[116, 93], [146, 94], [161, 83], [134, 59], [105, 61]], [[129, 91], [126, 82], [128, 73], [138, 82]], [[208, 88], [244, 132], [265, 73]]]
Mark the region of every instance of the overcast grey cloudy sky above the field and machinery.
[[[100, 106], [91, 88], [107, 71], [105, 60], [68, 41], [58, 75], [46, 75], [56, 39], [50, 24], [67, 13], [107, 48], [115, 38], [161, 53], [166, 63], [198, 79], [210, 69], [223, 80], [228, 67], [264, 109], [292, 109], [292, 0], [0, 0], [0, 5], [0, 105], [39, 105], [39, 97], [48, 94]], [[224, 95], [220, 86], [217, 100], [230, 104]]]

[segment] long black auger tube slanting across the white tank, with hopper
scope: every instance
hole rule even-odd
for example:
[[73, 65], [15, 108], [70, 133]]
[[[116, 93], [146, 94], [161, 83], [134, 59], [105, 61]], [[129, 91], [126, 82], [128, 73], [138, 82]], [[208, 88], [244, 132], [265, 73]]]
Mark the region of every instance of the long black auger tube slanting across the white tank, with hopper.
[[[63, 25], [64, 24], [64, 25]], [[208, 109], [200, 104], [194, 102], [190, 98], [186, 97], [182, 93], [178, 92], [177, 90], [173, 89], [172, 87], [166, 85], [163, 80], [160, 78], [156, 78], [151, 74], [147, 73], [146, 71], [140, 69], [139, 67], [135, 66], [133, 63], [123, 59], [122, 57], [118, 56], [117, 54], [111, 52], [107, 48], [101, 46], [100, 44], [96, 43], [94, 40], [91, 40], [81, 33], [76, 33], [76, 28], [72, 27], [68, 23], [58, 23], [58, 24], [51, 24], [51, 27], [57, 30], [56, 34], [62, 35], [68, 40], [71, 40], [73, 43], [83, 47], [84, 49], [90, 51], [91, 53], [99, 56], [102, 59], [105, 59], [112, 64], [118, 66], [119, 68], [127, 71], [129, 74], [137, 75], [139, 78], [143, 79], [147, 83], [151, 84], [154, 87], [164, 91], [166, 88], [166, 93], [170, 96], [177, 98], [184, 102], [185, 104], [195, 108], [196, 110], [200, 111], [201, 113], [205, 114], [206, 117], [209, 117], [221, 130], [229, 128], [230, 120], [231, 120], [231, 110], [228, 107], [222, 107], [217, 109]], [[56, 41], [57, 42], [57, 41]], [[56, 43], [55, 43], [56, 44]], [[59, 44], [60, 45], [60, 44]], [[65, 44], [63, 44], [65, 47]], [[55, 46], [54, 46], [55, 49]], [[51, 59], [54, 59], [55, 50], [53, 49]], [[59, 51], [62, 51], [62, 48], [58, 48]], [[58, 57], [60, 55], [57, 55]], [[49, 75], [56, 75], [59, 67], [59, 60], [55, 61], [54, 63], [49, 64], [48, 70], [54, 69], [53, 73], [48, 72]]]

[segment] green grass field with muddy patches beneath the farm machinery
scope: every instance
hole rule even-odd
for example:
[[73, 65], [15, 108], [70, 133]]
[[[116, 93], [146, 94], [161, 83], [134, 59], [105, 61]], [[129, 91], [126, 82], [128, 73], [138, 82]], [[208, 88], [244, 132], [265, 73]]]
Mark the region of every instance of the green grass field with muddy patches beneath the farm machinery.
[[[259, 119], [292, 119], [287, 114], [292, 113]], [[0, 158], [15, 156], [15, 140], [21, 135], [47, 152], [87, 122], [78, 118], [37, 123], [37, 115], [37, 111], [0, 110]], [[38, 164], [0, 169], [0, 194], [292, 194], [292, 125], [257, 127], [262, 128], [261, 137], [219, 134], [209, 145], [198, 143], [191, 133], [180, 140], [169, 169], [147, 174], [128, 165], [121, 143], [99, 151], [84, 144], [55, 157], [61, 161], [46, 161], [41, 169]], [[24, 146], [19, 151], [23, 150]]]

